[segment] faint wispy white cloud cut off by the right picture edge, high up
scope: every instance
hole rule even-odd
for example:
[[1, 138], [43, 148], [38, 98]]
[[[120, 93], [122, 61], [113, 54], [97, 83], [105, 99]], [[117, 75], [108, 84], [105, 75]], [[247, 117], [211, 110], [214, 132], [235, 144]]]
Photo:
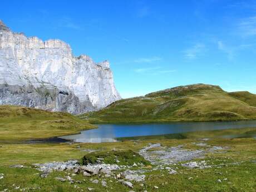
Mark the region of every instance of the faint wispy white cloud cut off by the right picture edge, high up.
[[241, 19], [238, 28], [243, 37], [256, 35], [256, 16]]

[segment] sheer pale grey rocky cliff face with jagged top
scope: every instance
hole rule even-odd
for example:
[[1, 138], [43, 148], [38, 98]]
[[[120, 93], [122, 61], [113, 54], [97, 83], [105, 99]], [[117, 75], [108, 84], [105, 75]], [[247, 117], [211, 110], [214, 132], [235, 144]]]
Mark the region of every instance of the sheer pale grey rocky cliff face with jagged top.
[[108, 61], [73, 57], [63, 41], [26, 37], [0, 21], [0, 105], [81, 114], [119, 99]]

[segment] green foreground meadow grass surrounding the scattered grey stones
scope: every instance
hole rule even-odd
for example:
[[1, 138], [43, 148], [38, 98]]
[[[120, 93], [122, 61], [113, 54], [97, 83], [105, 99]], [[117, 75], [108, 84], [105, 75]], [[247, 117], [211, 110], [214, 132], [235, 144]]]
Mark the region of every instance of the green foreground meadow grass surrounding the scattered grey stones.
[[[33, 163], [46, 163], [52, 161], [66, 161], [71, 159], [81, 160], [83, 156], [106, 155], [118, 149], [119, 151], [138, 152], [149, 143], [160, 142], [163, 146], [183, 145], [186, 149], [200, 149], [200, 146], [192, 144], [193, 142], [201, 142], [201, 138], [210, 137], [207, 142], [211, 146], [227, 146], [229, 147], [223, 152], [208, 152], [205, 154], [204, 160], [209, 165], [215, 165], [206, 169], [187, 169], [180, 165], [170, 165], [171, 168], [178, 168], [179, 174], [170, 175], [168, 170], [152, 170], [145, 173], [146, 180], [144, 186], [139, 183], [134, 184], [134, 191], [255, 191], [256, 189], [256, 141], [255, 139], [218, 139], [219, 134], [240, 132], [252, 132], [256, 128], [218, 130], [218, 131], [200, 131], [186, 133], [186, 139], [169, 139], [163, 136], [154, 136], [150, 138], [136, 138], [134, 140], [125, 140], [121, 142], [109, 142], [99, 144], [0, 144], [0, 173], [4, 174], [4, 179], [0, 180], [0, 191], [9, 189], [9, 191], [17, 191], [14, 186], [20, 186], [20, 189], [31, 188], [30, 191], [88, 191], [88, 187], [95, 188], [95, 191], [130, 191], [126, 186], [116, 183], [111, 178], [104, 178], [107, 181], [107, 188], [101, 184], [91, 183], [91, 178], [86, 178], [81, 174], [74, 176], [75, 180], [82, 181], [81, 184], [61, 183], [55, 180], [56, 176], [65, 177], [68, 171], [53, 171], [48, 178], [40, 178], [39, 171], [31, 168]], [[171, 137], [170, 137], [171, 138]], [[88, 154], [86, 149], [99, 150], [92, 154]], [[127, 156], [124, 153], [124, 156]], [[114, 155], [114, 154], [113, 154]], [[120, 154], [115, 154], [120, 155]], [[203, 160], [203, 159], [198, 159]], [[110, 158], [111, 161], [111, 158]], [[132, 161], [141, 161], [135, 157]], [[22, 164], [28, 168], [18, 169], [9, 168], [9, 165]], [[225, 166], [221, 166], [225, 164]], [[218, 166], [220, 165], [220, 166]], [[189, 179], [193, 178], [193, 179]], [[227, 180], [225, 180], [227, 178]], [[92, 179], [99, 179], [99, 176], [92, 176]], [[218, 182], [221, 180], [221, 183]], [[112, 180], [112, 182], [111, 182]], [[14, 186], [13, 186], [14, 184]], [[157, 186], [158, 189], [155, 189]], [[34, 190], [32, 190], [34, 188]]]

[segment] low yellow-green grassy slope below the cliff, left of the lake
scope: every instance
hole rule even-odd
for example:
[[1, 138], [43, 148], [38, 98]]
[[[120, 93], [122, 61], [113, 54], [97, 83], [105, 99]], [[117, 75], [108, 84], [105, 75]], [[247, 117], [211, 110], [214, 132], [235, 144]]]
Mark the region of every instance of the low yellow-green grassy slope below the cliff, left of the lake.
[[77, 133], [95, 126], [64, 112], [0, 106], [0, 142], [43, 139]]

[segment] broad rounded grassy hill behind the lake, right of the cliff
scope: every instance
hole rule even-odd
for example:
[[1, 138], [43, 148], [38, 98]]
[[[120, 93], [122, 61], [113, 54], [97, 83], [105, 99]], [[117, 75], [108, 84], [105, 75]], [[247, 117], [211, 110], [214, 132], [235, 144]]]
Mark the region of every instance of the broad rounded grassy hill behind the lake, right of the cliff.
[[250, 120], [256, 119], [256, 95], [195, 84], [123, 99], [78, 117], [92, 123]]

